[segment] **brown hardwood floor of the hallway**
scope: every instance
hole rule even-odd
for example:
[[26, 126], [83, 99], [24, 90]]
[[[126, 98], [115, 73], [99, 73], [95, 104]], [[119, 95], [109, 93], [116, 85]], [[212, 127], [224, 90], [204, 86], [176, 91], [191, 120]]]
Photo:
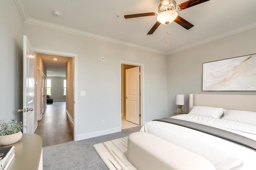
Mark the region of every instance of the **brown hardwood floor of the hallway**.
[[66, 113], [66, 102], [47, 105], [35, 134], [42, 137], [43, 147], [74, 140], [74, 126]]

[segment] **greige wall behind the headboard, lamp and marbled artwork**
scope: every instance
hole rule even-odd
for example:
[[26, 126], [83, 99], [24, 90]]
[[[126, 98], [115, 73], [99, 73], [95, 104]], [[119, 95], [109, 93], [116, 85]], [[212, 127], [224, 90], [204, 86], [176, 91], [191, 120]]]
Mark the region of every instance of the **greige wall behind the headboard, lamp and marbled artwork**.
[[168, 115], [176, 110], [175, 94], [256, 94], [256, 92], [202, 92], [202, 63], [256, 53], [256, 28], [230, 35], [168, 56]]

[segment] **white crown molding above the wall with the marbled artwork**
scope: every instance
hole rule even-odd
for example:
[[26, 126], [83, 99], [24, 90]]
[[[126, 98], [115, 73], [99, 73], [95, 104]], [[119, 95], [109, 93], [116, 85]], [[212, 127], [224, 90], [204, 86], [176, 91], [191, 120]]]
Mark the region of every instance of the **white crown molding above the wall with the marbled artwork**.
[[245, 26], [242, 26], [242, 27], [239, 27], [239, 28], [236, 28], [236, 29], [233, 29], [231, 31], [227, 31], [225, 33], [221, 33], [221, 34], [218, 34], [216, 36], [213, 36], [213, 37], [210, 37], [210, 38], [207, 38], [207, 39], [204, 39], [202, 41], [198, 41], [196, 43], [193, 43], [193, 44], [190, 44], [188, 46], [185, 46], [185, 47], [181, 47], [181, 48], [178, 48], [174, 51], [169, 51], [168, 52], [168, 55], [170, 54], [173, 54], [173, 53], [177, 53], [179, 51], [183, 51], [183, 50], [186, 50], [186, 49], [190, 49], [192, 47], [196, 47], [198, 45], [202, 45], [202, 44], [205, 44], [205, 43], [209, 43], [211, 41], [214, 41], [216, 39], [221, 39], [221, 38], [224, 38], [224, 37], [228, 37], [230, 35], [233, 35], [233, 34], [236, 34], [236, 33], [240, 33], [242, 31], [246, 31], [248, 29], [252, 29], [252, 28], [255, 28], [256, 27], [256, 22], [254, 23], [251, 23], [251, 24], [248, 24], [248, 25], [245, 25]]

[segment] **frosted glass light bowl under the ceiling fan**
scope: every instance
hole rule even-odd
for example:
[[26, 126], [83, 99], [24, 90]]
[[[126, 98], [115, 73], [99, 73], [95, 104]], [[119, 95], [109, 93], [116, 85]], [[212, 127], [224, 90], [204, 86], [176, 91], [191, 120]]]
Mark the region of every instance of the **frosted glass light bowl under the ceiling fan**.
[[178, 16], [176, 11], [168, 10], [158, 14], [156, 20], [164, 25], [167, 25], [174, 21]]

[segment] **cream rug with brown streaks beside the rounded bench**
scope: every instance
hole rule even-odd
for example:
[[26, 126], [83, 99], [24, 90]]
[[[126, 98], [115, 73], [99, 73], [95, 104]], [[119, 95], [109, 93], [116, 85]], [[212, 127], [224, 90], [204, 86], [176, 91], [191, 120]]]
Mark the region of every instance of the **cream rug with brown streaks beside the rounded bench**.
[[128, 137], [93, 145], [110, 170], [137, 170], [126, 158]]

